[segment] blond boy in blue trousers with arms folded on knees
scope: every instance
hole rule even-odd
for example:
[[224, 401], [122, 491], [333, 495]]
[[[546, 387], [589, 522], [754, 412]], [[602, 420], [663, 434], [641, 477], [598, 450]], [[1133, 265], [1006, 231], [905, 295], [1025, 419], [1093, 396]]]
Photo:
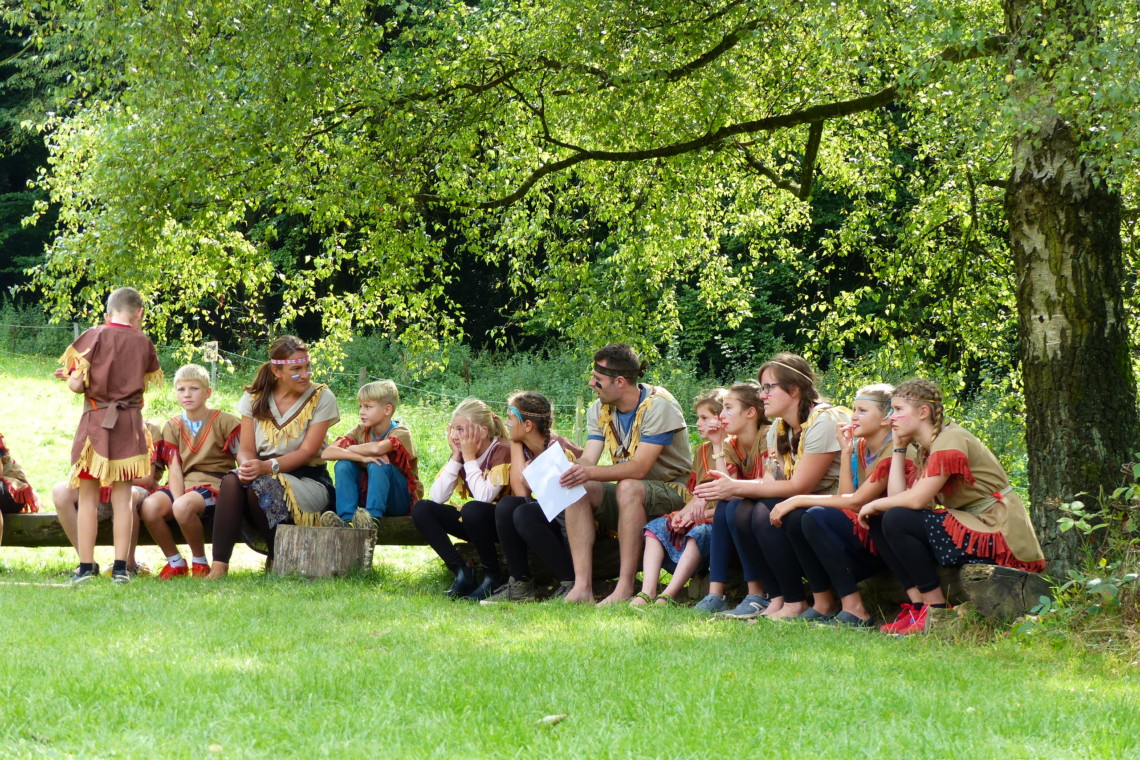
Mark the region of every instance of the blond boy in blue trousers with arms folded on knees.
[[[418, 458], [412, 432], [392, 419], [400, 392], [392, 381], [363, 385], [357, 393], [360, 424], [320, 455], [335, 459], [336, 512], [326, 512], [320, 524], [372, 528], [384, 515], [406, 515], [423, 498]], [[361, 508], [363, 505], [363, 508]]]

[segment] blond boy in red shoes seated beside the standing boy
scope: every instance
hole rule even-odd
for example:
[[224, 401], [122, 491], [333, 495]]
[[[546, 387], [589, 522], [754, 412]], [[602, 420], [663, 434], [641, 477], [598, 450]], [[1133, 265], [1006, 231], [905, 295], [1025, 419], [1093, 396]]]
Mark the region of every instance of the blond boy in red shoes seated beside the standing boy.
[[[206, 400], [210, 373], [198, 365], [179, 367], [174, 374], [174, 399], [182, 414], [171, 417], [157, 444], [160, 458], [169, 467], [166, 485], [142, 502], [142, 522], [166, 557], [158, 580], [179, 575], [203, 578], [210, 573], [202, 520], [213, 515], [222, 475], [236, 466], [237, 438], [242, 420], [227, 411], [210, 409]], [[190, 546], [187, 566], [168, 520], [176, 520]]]

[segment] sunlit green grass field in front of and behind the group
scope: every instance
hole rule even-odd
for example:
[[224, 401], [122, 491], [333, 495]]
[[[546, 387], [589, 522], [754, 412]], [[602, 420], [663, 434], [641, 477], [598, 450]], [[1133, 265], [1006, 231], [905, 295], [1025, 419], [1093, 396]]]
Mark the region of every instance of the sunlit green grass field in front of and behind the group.
[[[52, 368], [0, 359], [0, 432], [44, 498], [79, 411]], [[148, 415], [173, 411], [166, 394]], [[448, 409], [404, 409], [425, 473]], [[0, 562], [5, 758], [1140, 757], [1140, 662], [1043, 637], [467, 606], [421, 548], [333, 581], [249, 556], [215, 585], [67, 588], [70, 551]]]

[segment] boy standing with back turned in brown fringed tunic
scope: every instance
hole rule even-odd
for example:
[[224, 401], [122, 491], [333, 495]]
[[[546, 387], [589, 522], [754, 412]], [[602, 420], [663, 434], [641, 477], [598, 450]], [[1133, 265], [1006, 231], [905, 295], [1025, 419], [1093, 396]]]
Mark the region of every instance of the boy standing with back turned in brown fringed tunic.
[[114, 510], [115, 564], [111, 579], [130, 580], [127, 553], [131, 542], [131, 480], [150, 473], [150, 436], [142, 424], [142, 392], [162, 384], [154, 343], [139, 329], [142, 296], [121, 287], [107, 299], [107, 321], [67, 346], [56, 377], [82, 393], [83, 415], [72, 444], [72, 488], [79, 489], [79, 569], [81, 583], [95, 577], [95, 540], [100, 485], [111, 487]]

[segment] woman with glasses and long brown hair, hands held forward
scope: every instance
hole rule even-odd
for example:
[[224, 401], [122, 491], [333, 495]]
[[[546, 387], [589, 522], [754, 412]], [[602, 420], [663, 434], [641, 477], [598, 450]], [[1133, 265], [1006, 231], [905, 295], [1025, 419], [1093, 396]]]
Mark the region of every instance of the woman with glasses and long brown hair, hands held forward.
[[[848, 416], [822, 399], [812, 368], [795, 353], [773, 357], [760, 367], [759, 381], [764, 414], [773, 420], [767, 433], [768, 474], [759, 480], [736, 480], [712, 473], [715, 480], [698, 485], [697, 496], [709, 501], [743, 499], [728, 528], [738, 550], [748, 555], [767, 591], [769, 603], [760, 616], [828, 619], [829, 610], [808, 606], [804, 567], [788, 534], [772, 524], [769, 515], [776, 502], [788, 497], [834, 493], [840, 469], [839, 425], [846, 424]], [[797, 510], [790, 518], [801, 513]], [[822, 567], [812, 570], [826, 577]]]

